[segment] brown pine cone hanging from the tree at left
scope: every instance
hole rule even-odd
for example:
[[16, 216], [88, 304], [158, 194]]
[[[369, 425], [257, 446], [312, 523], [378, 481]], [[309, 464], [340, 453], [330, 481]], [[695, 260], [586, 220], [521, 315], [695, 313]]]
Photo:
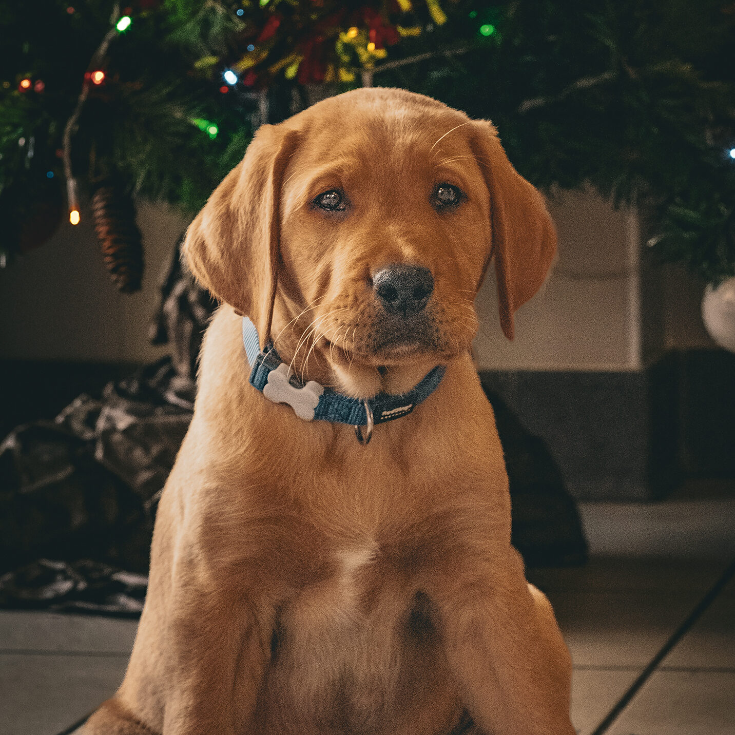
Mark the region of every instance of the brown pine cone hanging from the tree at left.
[[140, 290], [143, 242], [135, 224], [135, 204], [126, 190], [111, 180], [102, 182], [92, 197], [94, 227], [104, 265], [123, 293]]

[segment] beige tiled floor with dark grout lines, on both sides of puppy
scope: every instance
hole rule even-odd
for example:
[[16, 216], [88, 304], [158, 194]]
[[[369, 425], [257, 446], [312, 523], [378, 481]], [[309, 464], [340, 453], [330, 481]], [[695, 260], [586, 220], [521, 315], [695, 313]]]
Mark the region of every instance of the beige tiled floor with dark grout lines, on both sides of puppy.
[[[735, 493], [581, 512], [589, 564], [529, 573], [572, 652], [578, 732], [734, 735], [735, 581], [681, 625], [735, 559]], [[57, 735], [79, 720], [115, 691], [134, 637], [129, 620], [0, 612], [0, 735]]]

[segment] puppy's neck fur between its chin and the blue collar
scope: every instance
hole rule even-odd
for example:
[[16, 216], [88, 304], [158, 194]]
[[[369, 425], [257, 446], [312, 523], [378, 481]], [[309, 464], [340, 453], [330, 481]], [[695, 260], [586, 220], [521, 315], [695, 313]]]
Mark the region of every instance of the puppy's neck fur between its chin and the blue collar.
[[[292, 313], [295, 312], [295, 313]], [[311, 312], [279, 308], [270, 336], [282, 361], [301, 381], [314, 380], [350, 398], [378, 393], [400, 395], [412, 389], [439, 363], [431, 356], [401, 365], [370, 365], [331, 345], [314, 330]]]

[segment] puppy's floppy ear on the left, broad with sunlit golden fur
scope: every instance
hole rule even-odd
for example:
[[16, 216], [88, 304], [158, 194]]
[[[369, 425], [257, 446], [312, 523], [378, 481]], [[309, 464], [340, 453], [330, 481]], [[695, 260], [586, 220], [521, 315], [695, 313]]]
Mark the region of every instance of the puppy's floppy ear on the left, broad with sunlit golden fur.
[[270, 339], [276, 298], [283, 173], [297, 135], [282, 126], [261, 126], [184, 240], [184, 255], [198, 282], [251, 319], [262, 348]]

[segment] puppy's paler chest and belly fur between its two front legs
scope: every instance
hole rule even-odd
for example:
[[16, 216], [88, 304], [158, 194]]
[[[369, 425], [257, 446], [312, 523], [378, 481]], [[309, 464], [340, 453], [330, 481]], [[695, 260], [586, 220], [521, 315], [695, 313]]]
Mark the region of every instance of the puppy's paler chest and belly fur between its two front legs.
[[377, 545], [332, 556], [332, 573], [282, 607], [268, 689], [304, 723], [373, 732], [374, 718], [401, 706], [418, 661], [432, 658], [435, 634], [426, 600]]

